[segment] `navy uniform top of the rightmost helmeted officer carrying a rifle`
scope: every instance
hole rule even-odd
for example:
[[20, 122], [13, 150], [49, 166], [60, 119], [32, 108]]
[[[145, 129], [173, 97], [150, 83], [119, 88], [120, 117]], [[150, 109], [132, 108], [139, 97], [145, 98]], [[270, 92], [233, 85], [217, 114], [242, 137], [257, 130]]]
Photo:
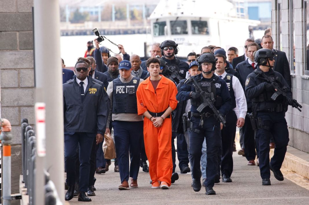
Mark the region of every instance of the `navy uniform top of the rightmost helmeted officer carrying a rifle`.
[[[260, 68], [257, 68], [258, 70], [260, 70]], [[291, 89], [289, 87], [289, 85], [287, 84], [287, 82], [285, 81], [284, 77], [274, 71], [273, 69], [269, 69], [268, 72], [265, 73], [267, 76], [269, 76], [272, 80], [276, 79], [277, 77], [280, 79], [280, 82], [277, 82], [279, 84], [279, 86], [283, 87], [286, 86], [288, 88], [286, 94], [290, 97], [292, 97], [292, 92]], [[260, 101], [260, 102], [252, 102], [252, 111], [256, 112], [256, 111], [263, 111], [269, 108], [274, 108], [276, 107], [276, 105], [278, 103], [286, 103], [287, 101], [286, 99], [283, 98], [282, 95], [279, 95], [278, 98], [273, 101], [270, 97], [273, 95], [274, 90], [270, 90], [267, 91], [266, 90], [266, 86], [267, 84], [270, 83], [267, 80], [265, 80], [262, 76], [258, 76], [256, 75], [256, 73], [252, 72], [248, 75], [247, 80], [246, 80], [246, 90], [245, 90], [245, 94], [246, 94], [246, 98], [249, 98], [250, 100], [254, 99], [254, 98], [258, 98], [260, 94], [264, 94], [264, 101], [260, 101], [260, 100], [256, 100], [256, 101]]]

